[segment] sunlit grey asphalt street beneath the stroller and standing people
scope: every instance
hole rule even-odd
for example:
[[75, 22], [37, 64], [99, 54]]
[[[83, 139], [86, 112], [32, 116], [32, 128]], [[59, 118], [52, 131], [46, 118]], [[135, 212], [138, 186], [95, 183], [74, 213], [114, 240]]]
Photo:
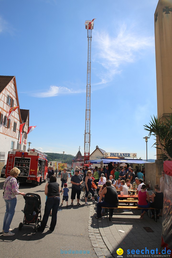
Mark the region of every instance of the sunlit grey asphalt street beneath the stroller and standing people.
[[[64, 201], [63, 207], [59, 206], [57, 213], [57, 224], [55, 230], [50, 232], [49, 226], [51, 217], [48, 219], [46, 229], [43, 233], [34, 232], [32, 228], [23, 227], [20, 231], [18, 229], [19, 223], [23, 222], [24, 214], [21, 211], [24, 208], [25, 202], [23, 196], [19, 195], [17, 198], [17, 207], [11, 223], [10, 228], [15, 233], [12, 237], [4, 237], [2, 233], [2, 225], [5, 213], [5, 202], [3, 199], [3, 183], [5, 178], [0, 178], [0, 250], [1, 258], [32, 258], [32, 257], [97, 257], [93, 251], [91, 241], [88, 236], [88, 217], [89, 209], [92, 201], [88, 201], [89, 205], [84, 206], [85, 200], [82, 199], [80, 203], [82, 206], [76, 206], [77, 200], [74, 200], [74, 206], [70, 206], [71, 200], [71, 183], [70, 178], [68, 180], [69, 188], [69, 207], [64, 207], [66, 202]], [[57, 182], [61, 184], [60, 178], [57, 178]], [[20, 183], [19, 190], [27, 193], [37, 193], [41, 197], [42, 202], [42, 217], [45, 208], [45, 184], [40, 186], [31, 186], [28, 183]], [[81, 197], [83, 192], [81, 192]], [[62, 196], [60, 195], [62, 200]], [[70, 253], [70, 250], [75, 251], [75, 254]], [[70, 254], [66, 254], [68, 251]], [[76, 253], [80, 251], [80, 253]], [[82, 253], [81, 253], [82, 251]], [[86, 251], [86, 254], [84, 254]], [[62, 254], [63, 252], [63, 254]]]

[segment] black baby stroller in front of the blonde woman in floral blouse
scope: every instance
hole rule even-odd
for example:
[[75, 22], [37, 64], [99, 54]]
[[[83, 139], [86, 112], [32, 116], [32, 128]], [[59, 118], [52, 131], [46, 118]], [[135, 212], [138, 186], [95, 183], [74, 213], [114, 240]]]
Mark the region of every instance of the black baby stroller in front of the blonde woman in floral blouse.
[[38, 224], [39, 222], [41, 222], [40, 196], [36, 193], [26, 193], [23, 198], [25, 199], [24, 210], [22, 210], [22, 212], [24, 213], [24, 219], [23, 223], [20, 222], [19, 224], [19, 230], [21, 230], [22, 227], [34, 227], [34, 230], [36, 232], [38, 229]]

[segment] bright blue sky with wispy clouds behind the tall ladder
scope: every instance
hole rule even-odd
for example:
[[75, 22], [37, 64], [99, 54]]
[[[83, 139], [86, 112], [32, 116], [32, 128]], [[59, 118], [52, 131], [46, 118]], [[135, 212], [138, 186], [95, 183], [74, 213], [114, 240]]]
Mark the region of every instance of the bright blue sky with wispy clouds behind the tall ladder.
[[[144, 124], [157, 115], [154, 12], [158, 0], [0, 0], [1, 75], [15, 75], [30, 110], [31, 147], [84, 155], [87, 30], [91, 147], [146, 158]], [[148, 159], [155, 158], [148, 141]]]

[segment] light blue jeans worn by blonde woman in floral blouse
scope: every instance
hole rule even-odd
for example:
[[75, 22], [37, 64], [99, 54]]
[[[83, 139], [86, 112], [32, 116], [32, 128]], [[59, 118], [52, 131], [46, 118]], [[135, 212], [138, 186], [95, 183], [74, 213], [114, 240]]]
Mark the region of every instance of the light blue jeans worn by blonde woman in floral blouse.
[[6, 205], [6, 212], [4, 216], [3, 230], [5, 233], [9, 232], [10, 224], [15, 213], [15, 207], [17, 204], [17, 198], [11, 200], [4, 200]]

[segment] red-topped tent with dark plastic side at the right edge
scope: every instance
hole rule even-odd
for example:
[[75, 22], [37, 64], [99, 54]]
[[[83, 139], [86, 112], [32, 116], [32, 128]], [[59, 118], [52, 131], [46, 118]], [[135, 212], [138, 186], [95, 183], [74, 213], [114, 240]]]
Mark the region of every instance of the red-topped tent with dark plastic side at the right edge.
[[165, 161], [163, 169], [165, 172], [165, 184], [161, 246], [163, 249], [166, 247], [166, 250], [171, 250], [170, 257], [172, 257], [172, 161]]

